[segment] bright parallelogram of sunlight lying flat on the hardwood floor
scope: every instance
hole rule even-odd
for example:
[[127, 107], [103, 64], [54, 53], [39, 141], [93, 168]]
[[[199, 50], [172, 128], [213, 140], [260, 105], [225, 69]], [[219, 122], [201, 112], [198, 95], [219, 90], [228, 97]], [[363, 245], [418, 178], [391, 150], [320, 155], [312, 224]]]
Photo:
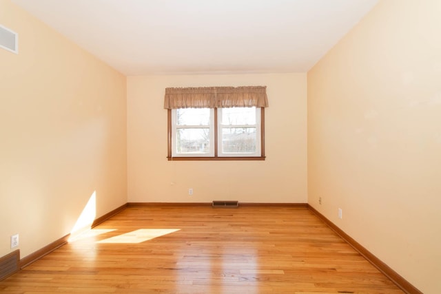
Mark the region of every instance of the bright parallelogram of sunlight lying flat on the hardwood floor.
[[98, 241], [97, 243], [141, 243], [147, 240], [161, 237], [170, 233], [179, 231], [180, 229], [139, 229], [122, 235], [116, 235], [112, 238]]

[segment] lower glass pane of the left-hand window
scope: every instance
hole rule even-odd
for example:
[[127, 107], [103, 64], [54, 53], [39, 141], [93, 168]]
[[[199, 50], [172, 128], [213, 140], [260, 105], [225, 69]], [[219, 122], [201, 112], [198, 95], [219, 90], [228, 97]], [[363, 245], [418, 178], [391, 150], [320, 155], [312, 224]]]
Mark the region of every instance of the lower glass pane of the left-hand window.
[[176, 129], [176, 152], [178, 154], [208, 154], [209, 128]]

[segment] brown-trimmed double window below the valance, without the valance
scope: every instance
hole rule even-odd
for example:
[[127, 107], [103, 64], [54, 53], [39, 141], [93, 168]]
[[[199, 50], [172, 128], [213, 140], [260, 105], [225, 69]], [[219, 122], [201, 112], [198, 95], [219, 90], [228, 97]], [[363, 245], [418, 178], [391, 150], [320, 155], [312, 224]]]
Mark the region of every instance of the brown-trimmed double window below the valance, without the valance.
[[263, 112], [260, 107], [171, 109], [168, 157], [262, 160]]

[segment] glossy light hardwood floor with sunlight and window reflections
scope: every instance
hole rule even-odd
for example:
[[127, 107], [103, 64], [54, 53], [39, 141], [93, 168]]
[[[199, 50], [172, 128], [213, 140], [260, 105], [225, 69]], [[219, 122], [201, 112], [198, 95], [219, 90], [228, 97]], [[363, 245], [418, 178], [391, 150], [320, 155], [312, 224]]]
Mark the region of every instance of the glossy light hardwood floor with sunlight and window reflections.
[[128, 207], [0, 292], [402, 293], [296, 207]]

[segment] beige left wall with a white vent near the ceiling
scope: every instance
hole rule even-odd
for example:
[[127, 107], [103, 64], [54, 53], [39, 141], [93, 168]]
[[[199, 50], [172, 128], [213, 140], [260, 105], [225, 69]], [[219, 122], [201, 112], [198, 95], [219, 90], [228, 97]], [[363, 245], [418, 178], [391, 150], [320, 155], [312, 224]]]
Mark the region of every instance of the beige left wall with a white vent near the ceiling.
[[0, 0], [19, 54], [0, 49], [0, 256], [70, 233], [96, 191], [96, 217], [127, 202], [126, 79]]

